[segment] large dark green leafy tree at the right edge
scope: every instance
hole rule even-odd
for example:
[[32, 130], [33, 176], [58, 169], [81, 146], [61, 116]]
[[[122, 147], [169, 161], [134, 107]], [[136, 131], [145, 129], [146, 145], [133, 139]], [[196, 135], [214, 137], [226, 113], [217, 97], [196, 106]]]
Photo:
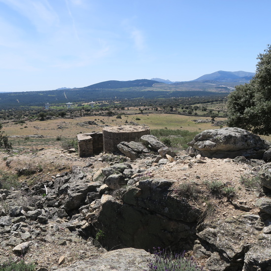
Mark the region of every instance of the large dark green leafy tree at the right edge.
[[256, 74], [228, 97], [228, 125], [260, 135], [271, 134], [271, 45], [259, 54]]

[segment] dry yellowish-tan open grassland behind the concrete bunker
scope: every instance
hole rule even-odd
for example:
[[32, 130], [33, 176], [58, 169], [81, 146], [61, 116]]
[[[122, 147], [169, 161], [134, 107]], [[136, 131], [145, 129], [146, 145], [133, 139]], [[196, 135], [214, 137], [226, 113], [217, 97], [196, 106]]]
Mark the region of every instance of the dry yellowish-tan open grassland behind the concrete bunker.
[[[184, 116], [177, 114], [135, 114], [116, 116], [87, 116], [78, 118], [59, 118], [45, 121], [26, 121], [24, 124], [13, 122], [3, 125], [3, 131], [9, 137], [13, 147], [31, 146], [32, 150], [38, 148], [60, 147], [68, 138], [75, 138], [79, 133], [102, 132], [105, 125], [117, 126], [131, 124], [147, 125], [151, 130], [172, 129], [188, 130], [190, 132], [202, 132], [206, 129], [214, 129], [211, 123], [196, 124], [194, 119], [210, 119], [209, 117]], [[219, 119], [224, 120], [224, 119]], [[89, 121], [97, 125], [88, 124]], [[29, 135], [41, 135], [42, 138], [29, 137]], [[15, 137], [19, 136], [19, 137]], [[61, 138], [61, 140], [57, 140]]]

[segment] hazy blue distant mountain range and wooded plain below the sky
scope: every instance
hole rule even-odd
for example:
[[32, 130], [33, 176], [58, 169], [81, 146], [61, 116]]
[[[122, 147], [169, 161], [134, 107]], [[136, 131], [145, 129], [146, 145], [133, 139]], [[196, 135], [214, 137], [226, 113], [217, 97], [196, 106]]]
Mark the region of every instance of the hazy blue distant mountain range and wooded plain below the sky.
[[235, 89], [236, 85], [249, 82], [253, 75], [254, 73], [245, 71], [216, 71], [186, 82], [170, 82], [159, 78], [156, 78], [157, 80], [111, 80], [83, 88], [64, 87], [48, 91], [5, 92], [0, 93], [0, 106], [12, 108], [25, 105], [44, 106], [47, 102], [60, 104], [136, 98], [156, 99], [213, 95], [225, 97]]

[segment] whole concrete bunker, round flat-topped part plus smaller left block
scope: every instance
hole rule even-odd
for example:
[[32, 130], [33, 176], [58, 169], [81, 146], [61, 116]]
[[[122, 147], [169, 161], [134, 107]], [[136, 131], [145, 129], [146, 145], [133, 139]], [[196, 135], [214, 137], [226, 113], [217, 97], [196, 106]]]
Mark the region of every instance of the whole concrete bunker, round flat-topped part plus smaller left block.
[[140, 125], [119, 125], [105, 127], [102, 133], [77, 135], [79, 157], [88, 157], [94, 154], [114, 153], [117, 145], [122, 141], [136, 141], [142, 135], [149, 135], [150, 128]]

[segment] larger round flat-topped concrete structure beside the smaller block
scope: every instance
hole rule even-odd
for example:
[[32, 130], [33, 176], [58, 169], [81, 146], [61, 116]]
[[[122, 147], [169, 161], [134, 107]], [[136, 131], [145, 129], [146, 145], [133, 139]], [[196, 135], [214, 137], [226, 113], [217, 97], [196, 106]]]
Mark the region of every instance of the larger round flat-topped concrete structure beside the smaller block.
[[147, 126], [137, 125], [119, 125], [114, 127], [105, 127], [102, 129], [103, 151], [105, 153], [114, 153], [118, 151], [117, 145], [123, 141], [135, 141], [142, 135], [149, 135], [150, 129]]

